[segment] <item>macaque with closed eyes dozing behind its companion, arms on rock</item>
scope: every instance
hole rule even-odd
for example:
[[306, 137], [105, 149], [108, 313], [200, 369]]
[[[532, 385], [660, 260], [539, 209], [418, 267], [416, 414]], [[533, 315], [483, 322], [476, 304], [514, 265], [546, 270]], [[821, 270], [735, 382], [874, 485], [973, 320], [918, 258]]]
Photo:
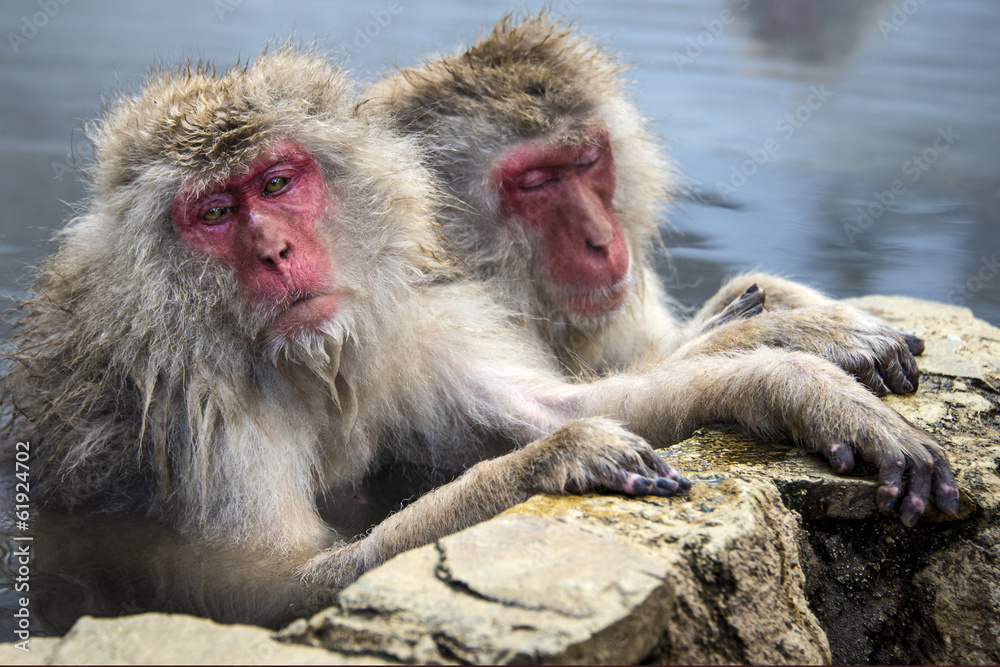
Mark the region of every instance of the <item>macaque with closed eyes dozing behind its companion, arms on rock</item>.
[[[918, 339], [781, 278], [742, 275], [690, 321], [672, 312], [652, 263], [670, 166], [628, 101], [622, 71], [547, 14], [508, 16], [466, 51], [401, 69], [367, 92], [428, 149], [453, 203], [443, 229], [468, 270], [568, 372], [655, 361], [735, 319], [679, 354], [796, 349], [876, 393], [914, 391]], [[750, 317], [765, 294], [771, 312]]]

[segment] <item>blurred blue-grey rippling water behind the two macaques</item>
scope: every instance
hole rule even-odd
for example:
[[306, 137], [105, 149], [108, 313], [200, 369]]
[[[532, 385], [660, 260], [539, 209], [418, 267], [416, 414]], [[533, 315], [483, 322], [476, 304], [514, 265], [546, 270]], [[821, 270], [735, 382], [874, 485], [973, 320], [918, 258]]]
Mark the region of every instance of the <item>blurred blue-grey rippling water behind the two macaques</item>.
[[635, 101], [685, 189], [660, 258], [681, 303], [758, 267], [1000, 324], [993, 0], [4, 2], [0, 297], [23, 295], [84, 195], [84, 124], [154, 63], [228, 66], [294, 33], [367, 82], [543, 6], [632, 66]]

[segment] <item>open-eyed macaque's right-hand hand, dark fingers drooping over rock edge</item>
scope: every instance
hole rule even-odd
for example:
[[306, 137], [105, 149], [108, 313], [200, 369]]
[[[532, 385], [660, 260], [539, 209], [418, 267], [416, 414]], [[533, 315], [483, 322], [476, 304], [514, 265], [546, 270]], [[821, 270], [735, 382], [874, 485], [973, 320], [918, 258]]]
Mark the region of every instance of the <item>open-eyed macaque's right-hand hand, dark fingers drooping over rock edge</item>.
[[818, 439], [816, 448], [842, 474], [854, 468], [856, 456], [878, 466], [875, 501], [883, 511], [898, 511], [908, 527], [931, 500], [943, 514], [958, 514], [958, 486], [938, 442], [878, 399], [871, 400], [856, 425], [848, 419], [829, 429], [836, 435]]

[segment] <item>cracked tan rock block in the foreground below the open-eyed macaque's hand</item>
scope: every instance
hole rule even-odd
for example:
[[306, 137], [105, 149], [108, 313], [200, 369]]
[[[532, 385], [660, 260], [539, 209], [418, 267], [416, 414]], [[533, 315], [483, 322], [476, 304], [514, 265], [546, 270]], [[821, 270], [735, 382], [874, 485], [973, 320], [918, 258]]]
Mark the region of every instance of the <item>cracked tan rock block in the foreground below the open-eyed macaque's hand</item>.
[[404, 662], [828, 662], [797, 532], [763, 482], [536, 496], [389, 561], [283, 635]]

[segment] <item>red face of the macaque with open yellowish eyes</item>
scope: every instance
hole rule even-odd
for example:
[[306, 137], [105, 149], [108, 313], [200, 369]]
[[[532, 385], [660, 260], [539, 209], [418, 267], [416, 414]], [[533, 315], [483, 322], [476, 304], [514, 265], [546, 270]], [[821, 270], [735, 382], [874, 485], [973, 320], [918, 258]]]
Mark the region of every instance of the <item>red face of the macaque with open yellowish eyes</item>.
[[332, 203], [316, 162], [286, 141], [245, 174], [194, 196], [182, 189], [171, 214], [188, 246], [235, 273], [249, 305], [271, 318], [268, 332], [289, 339], [337, 313], [335, 266], [317, 235]]

